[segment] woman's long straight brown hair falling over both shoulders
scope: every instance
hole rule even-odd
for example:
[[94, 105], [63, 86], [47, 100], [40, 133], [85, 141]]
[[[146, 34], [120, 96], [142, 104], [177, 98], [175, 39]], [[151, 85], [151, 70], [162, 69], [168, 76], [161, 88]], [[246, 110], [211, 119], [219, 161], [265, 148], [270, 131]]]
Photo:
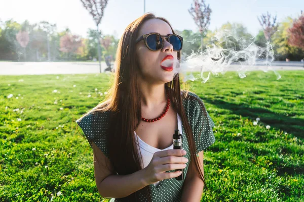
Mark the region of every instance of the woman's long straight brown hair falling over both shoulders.
[[[115, 171], [120, 175], [131, 174], [142, 169], [142, 159], [139, 155], [140, 150], [134, 139], [134, 131], [138, 127], [141, 118], [141, 94], [137, 85], [139, 66], [135, 53], [135, 40], [140, 27], [149, 19], [163, 20], [172, 29], [172, 26], [166, 19], [156, 17], [151, 13], [147, 13], [134, 20], [125, 29], [117, 49], [115, 80], [105, 101], [93, 110], [96, 112], [110, 112], [107, 133], [109, 159]], [[173, 29], [172, 32], [174, 33]], [[180, 60], [180, 52], [178, 52], [177, 58]], [[191, 159], [194, 160], [196, 170], [205, 184], [205, 178], [196, 157], [193, 131], [188, 123], [182, 105], [182, 99], [186, 98], [187, 93], [184, 91], [181, 94], [179, 75], [176, 74], [172, 81], [165, 83], [165, 87], [171, 91], [171, 104], [181, 117], [189, 144]], [[148, 201], [151, 201], [149, 186], [144, 187], [142, 191], [144, 191]], [[121, 199], [123, 201], [139, 201], [138, 191]]]

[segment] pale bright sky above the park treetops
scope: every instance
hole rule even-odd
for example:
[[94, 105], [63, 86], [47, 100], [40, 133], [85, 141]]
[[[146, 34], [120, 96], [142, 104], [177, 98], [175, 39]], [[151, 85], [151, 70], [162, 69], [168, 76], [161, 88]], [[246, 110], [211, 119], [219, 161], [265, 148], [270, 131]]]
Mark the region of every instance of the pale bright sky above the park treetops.
[[[101, 21], [103, 34], [121, 37], [125, 28], [144, 13], [144, 0], [109, 0]], [[193, 0], [145, 0], [145, 12], [166, 18], [173, 29], [198, 28], [189, 14]], [[261, 29], [257, 16], [270, 12], [277, 21], [287, 16], [296, 18], [304, 10], [303, 0], [206, 0], [212, 10], [209, 29], [215, 30], [226, 22], [242, 23], [249, 33], [256, 35]], [[48, 21], [56, 24], [58, 31], [68, 27], [73, 34], [87, 37], [89, 28], [96, 29], [92, 16], [80, 0], [0, 0], [0, 20], [13, 19], [31, 24]]]

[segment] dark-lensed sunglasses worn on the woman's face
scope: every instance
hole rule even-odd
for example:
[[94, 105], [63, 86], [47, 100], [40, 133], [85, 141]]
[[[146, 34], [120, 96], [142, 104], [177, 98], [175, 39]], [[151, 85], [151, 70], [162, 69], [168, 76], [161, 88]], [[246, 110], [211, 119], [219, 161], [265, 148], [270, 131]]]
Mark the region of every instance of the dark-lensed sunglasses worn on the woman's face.
[[142, 39], [145, 45], [151, 51], [158, 51], [164, 47], [163, 38], [173, 45], [174, 51], [180, 51], [182, 48], [182, 37], [176, 34], [170, 34], [168, 36], [162, 36], [159, 33], [149, 33], [140, 36], [135, 42], [138, 43]]

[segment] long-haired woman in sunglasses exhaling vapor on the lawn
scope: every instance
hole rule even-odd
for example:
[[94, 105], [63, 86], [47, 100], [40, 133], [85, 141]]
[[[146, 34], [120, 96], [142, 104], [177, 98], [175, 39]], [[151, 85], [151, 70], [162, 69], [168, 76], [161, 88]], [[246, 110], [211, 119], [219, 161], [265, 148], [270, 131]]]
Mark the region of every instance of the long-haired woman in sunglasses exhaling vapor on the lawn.
[[[201, 199], [203, 150], [215, 141], [214, 123], [196, 94], [180, 90], [173, 70], [181, 48], [166, 19], [145, 14], [133, 21], [121, 37], [106, 101], [77, 120], [93, 148], [98, 191], [111, 201]], [[183, 149], [173, 149], [175, 129]], [[175, 179], [177, 169], [184, 180]]]

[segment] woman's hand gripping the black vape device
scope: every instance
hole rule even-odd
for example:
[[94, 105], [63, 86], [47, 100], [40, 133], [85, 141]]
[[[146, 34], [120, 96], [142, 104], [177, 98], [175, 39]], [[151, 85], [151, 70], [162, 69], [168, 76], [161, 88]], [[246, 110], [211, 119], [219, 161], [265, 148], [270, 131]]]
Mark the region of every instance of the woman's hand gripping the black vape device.
[[[184, 153], [182, 153], [184, 152]], [[144, 170], [145, 181], [153, 184], [164, 179], [178, 177], [181, 171], [166, 173], [166, 171], [184, 169], [188, 159], [182, 157], [186, 154], [183, 149], [167, 149], [154, 153], [149, 165]]]

